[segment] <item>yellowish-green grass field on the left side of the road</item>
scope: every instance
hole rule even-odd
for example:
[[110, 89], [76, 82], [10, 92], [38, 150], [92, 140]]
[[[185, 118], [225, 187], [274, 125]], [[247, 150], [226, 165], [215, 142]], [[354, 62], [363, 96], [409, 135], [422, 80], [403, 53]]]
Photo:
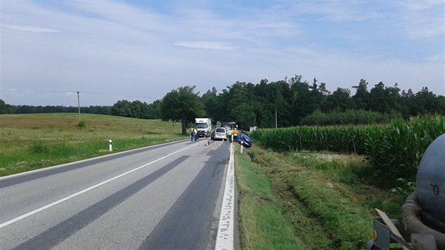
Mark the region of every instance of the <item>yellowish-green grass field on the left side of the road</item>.
[[25, 172], [169, 141], [181, 135], [180, 124], [159, 120], [82, 114], [1, 114], [0, 176]]

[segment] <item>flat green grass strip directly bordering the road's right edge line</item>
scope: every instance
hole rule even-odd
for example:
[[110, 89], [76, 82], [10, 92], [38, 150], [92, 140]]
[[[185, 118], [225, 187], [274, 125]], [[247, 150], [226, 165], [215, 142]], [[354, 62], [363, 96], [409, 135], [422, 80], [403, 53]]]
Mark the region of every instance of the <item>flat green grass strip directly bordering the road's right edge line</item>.
[[302, 249], [292, 224], [280, 212], [271, 181], [247, 154], [235, 154], [239, 185], [239, 218], [242, 249]]

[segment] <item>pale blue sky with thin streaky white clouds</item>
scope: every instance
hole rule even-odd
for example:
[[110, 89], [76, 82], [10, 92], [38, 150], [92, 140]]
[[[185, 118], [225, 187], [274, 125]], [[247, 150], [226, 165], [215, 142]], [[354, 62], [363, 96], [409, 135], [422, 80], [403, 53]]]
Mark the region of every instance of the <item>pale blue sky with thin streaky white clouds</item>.
[[445, 95], [445, 0], [0, 1], [0, 99], [151, 103], [301, 75]]

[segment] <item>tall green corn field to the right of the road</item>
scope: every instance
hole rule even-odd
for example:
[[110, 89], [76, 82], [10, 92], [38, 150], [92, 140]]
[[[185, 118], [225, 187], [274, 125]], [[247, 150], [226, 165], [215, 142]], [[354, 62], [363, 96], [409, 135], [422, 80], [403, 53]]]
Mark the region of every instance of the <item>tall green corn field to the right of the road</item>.
[[356, 153], [365, 155], [384, 178], [415, 179], [428, 145], [445, 133], [445, 117], [414, 117], [373, 126], [299, 126], [260, 129], [251, 138], [273, 150]]

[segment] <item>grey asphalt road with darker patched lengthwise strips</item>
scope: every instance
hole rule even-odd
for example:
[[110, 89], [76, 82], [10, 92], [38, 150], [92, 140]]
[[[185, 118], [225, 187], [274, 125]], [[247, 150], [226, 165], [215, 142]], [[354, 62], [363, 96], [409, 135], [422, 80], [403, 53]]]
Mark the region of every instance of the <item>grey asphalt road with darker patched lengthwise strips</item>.
[[201, 139], [0, 179], [0, 249], [214, 249], [229, 145]]

